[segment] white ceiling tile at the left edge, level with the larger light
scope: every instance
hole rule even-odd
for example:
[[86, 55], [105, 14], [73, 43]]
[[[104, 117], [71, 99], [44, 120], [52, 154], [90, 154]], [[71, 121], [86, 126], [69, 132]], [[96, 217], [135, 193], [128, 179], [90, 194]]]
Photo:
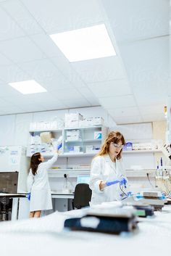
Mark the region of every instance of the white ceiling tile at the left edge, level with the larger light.
[[30, 62], [45, 57], [45, 54], [28, 37], [0, 42], [0, 52], [13, 62]]

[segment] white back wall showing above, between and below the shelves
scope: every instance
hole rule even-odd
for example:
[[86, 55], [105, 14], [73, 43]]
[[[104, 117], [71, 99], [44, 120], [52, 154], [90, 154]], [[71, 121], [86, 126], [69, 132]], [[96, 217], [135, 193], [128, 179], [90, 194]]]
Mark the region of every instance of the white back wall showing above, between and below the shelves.
[[[116, 125], [112, 118], [102, 107], [87, 107], [72, 110], [54, 110], [46, 112], [33, 112], [18, 115], [4, 115], [0, 116], [0, 146], [6, 145], [23, 145], [27, 146], [29, 143], [29, 126], [30, 122], [51, 121], [55, 117], [64, 118], [67, 112], [80, 112], [84, 117], [101, 116], [105, 120], [105, 125], [109, 127], [109, 131], [120, 131], [126, 141], [149, 142], [153, 139], [152, 123], [139, 123], [129, 125]], [[125, 167], [130, 168], [131, 165], [141, 165], [143, 168], [155, 168], [156, 161], [154, 154], [123, 154]], [[66, 159], [60, 159], [60, 165], [67, 165]], [[74, 162], [73, 162], [74, 161]], [[71, 158], [68, 162], [70, 165], [76, 163], [76, 160]], [[78, 163], [90, 164], [91, 157], [82, 157]], [[76, 179], [74, 179], [76, 181]], [[62, 189], [64, 178], [58, 179], [58, 182], [53, 183], [53, 189]], [[74, 183], [74, 181], [73, 181]], [[149, 182], [146, 178], [131, 178], [130, 183], [136, 186], [148, 186]], [[146, 184], [146, 185], [145, 185]]]

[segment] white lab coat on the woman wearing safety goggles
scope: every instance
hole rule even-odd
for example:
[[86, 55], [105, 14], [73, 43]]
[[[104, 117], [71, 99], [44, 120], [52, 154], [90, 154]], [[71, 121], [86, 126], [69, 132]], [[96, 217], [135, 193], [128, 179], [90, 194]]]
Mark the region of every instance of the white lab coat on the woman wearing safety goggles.
[[125, 176], [122, 160], [112, 162], [109, 154], [95, 157], [91, 163], [91, 203], [93, 205], [99, 205], [102, 202], [120, 200], [122, 191], [120, 191], [119, 183], [107, 186], [102, 191], [99, 189], [99, 184], [101, 181], [114, 181], [114, 179], [120, 178], [122, 175]]

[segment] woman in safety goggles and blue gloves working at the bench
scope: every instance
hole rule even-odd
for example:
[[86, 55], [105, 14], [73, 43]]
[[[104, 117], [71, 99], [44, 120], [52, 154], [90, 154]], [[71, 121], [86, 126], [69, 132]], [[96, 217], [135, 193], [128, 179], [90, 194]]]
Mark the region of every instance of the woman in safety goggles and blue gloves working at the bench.
[[127, 182], [121, 159], [124, 144], [122, 134], [112, 131], [102, 144], [100, 152], [93, 158], [90, 180], [93, 205], [122, 198], [121, 188]]

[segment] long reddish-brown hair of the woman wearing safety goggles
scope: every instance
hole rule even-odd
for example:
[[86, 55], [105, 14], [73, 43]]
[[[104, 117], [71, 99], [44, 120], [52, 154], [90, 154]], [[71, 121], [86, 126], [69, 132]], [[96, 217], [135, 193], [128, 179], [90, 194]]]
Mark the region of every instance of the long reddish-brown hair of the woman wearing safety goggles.
[[[96, 157], [99, 155], [108, 154], [110, 143], [114, 142], [117, 144], [120, 141], [122, 141], [122, 145], [125, 144], [125, 139], [124, 139], [124, 136], [122, 136], [122, 133], [120, 133], [119, 131], [111, 131], [108, 134], [107, 138], [104, 140], [104, 143], [101, 146], [101, 150], [98, 154], [96, 154]], [[120, 150], [120, 153], [117, 154], [117, 159], [121, 159], [121, 152], [122, 152], [122, 149]]]

